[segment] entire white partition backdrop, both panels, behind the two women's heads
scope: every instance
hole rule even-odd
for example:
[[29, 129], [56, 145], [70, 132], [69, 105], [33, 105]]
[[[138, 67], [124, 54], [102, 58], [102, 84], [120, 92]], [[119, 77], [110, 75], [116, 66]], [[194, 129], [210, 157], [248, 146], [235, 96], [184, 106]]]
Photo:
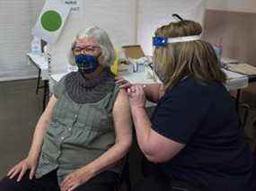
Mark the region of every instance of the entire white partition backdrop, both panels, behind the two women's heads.
[[79, 3], [80, 14], [71, 13], [64, 32], [52, 46], [51, 71], [54, 74], [66, 72], [70, 43], [82, 28], [99, 26], [107, 30], [116, 48], [140, 44], [146, 55], [151, 55], [154, 30], [172, 22], [172, 13], [202, 22], [205, 8], [205, 0], [79, 0]]

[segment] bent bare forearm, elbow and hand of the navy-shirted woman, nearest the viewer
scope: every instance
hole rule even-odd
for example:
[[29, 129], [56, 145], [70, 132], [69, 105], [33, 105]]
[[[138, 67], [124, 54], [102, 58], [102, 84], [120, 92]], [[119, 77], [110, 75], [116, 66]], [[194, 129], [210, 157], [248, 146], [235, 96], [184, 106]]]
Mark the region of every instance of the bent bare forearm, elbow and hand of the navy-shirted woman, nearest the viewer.
[[142, 86], [135, 85], [129, 90], [129, 100], [137, 143], [146, 158], [153, 162], [170, 161], [184, 144], [177, 143], [159, 135], [152, 128], [145, 109], [145, 95]]

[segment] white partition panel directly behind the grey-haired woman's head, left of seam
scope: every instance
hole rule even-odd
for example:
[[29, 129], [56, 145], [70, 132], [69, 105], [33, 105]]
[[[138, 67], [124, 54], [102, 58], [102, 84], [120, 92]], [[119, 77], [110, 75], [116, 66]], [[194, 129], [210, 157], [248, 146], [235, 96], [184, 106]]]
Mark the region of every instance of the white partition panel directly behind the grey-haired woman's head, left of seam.
[[136, 0], [80, 0], [80, 15], [71, 12], [63, 33], [51, 48], [51, 72], [66, 71], [67, 52], [78, 30], [99, 26], [107, 30], [115, 47], [136, 43]]

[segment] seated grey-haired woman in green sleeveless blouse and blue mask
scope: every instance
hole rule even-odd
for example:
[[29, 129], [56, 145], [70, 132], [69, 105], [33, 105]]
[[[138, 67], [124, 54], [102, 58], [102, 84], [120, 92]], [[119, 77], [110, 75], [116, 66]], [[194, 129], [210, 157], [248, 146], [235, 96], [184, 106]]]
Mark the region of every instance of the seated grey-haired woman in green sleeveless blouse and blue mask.
[[81, 30], [70, 62], [78, 72], [54, 87], [28, 157], [0, 182], [1, 191], [113, 190], [131, 145], [128, 96], [114, 82], [108, 34]]

